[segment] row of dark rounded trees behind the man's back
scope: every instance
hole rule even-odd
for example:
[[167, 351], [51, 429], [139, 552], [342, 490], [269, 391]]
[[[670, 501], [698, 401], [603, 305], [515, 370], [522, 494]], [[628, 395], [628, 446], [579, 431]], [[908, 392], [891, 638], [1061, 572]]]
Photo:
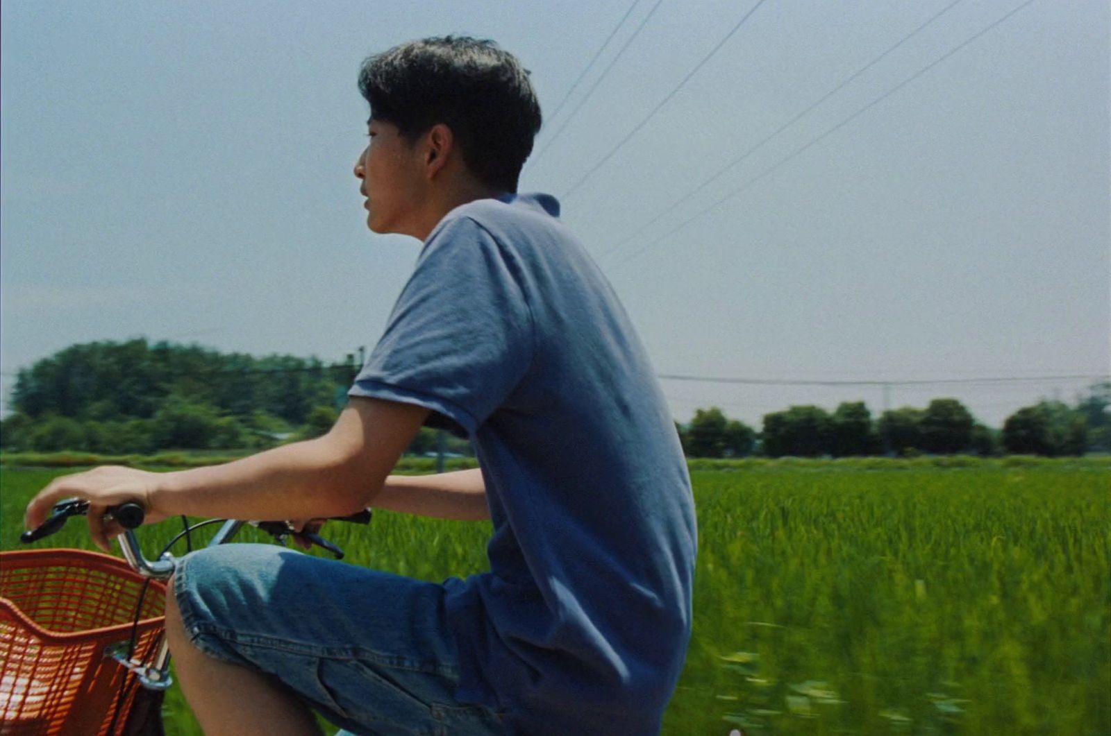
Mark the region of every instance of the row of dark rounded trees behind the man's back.
[[863, 402], [844, 402], [833, 413], [791, 406], [763, 416], [760, 432], [727, 417], [718, 407], [699, 409], [675, 425], [690, 457], [851, 457], [967, 453], [1083, 455], [1111, 452], [1111, 382], [1092, 385], [1074, 406], [1042, 401], [1007, 417], [1001, 431], [972, 416], [955, 399], [934, 399], [925, 409], [904, 406], [873, 420]]

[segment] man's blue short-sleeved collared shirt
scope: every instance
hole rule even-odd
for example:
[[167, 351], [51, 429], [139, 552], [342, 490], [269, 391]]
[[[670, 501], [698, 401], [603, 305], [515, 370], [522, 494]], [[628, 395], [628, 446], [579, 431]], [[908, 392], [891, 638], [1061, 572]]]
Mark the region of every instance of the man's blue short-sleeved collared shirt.
[[547, 194], [449, 212], [351, 389], [472, 440], [490, 572], [451, 578], [458, 697], [527, 734], [650, 734], [682, 668], [697, 532], [645, 351]]

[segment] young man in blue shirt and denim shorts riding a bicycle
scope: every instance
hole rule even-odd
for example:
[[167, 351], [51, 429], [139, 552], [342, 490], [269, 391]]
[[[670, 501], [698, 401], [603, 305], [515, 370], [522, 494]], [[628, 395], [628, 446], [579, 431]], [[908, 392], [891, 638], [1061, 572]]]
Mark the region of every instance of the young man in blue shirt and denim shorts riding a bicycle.
[[[547, 194], [517, 193], [540, 129], [518, 60], [426, 39], [369, 58], [367, 224], [423, 242], [324, 436], [172, 473], [51, 483], [103, 512], [303, 520], [367, 506], [490, 518], [490, 571], [431, 584], [272, 545], [179, 561], [167, 636], [209, 734], [651, 734], [682, 667], [697, 533], [670, 412], [624, 310]], [[418, 430], [480, 467], [391, 475]]]

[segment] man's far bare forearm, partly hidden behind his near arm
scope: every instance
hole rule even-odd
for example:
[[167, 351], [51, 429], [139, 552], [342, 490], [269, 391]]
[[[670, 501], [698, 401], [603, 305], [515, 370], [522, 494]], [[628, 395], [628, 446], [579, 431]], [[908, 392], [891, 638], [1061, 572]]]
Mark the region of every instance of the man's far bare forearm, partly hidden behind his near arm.
[[438, 518], [490, 518], [482, 471], [477, 467], [439, 475], [391, 475], [371, 505]]

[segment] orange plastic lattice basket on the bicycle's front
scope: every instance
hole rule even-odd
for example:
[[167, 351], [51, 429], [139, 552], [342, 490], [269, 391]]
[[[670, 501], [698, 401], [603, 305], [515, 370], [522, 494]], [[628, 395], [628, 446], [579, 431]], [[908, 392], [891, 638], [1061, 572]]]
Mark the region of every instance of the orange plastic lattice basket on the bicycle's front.
[[[124, 667], [106, 647], [131, 639], [143, 578], [126, 562], [81, 550], [0, 553], [0, 734], [103, 736]], [[152, 581], [132, 659], [152, 659], [166, 618]], [[138, 688], [127, 687], [117, 730]]]

